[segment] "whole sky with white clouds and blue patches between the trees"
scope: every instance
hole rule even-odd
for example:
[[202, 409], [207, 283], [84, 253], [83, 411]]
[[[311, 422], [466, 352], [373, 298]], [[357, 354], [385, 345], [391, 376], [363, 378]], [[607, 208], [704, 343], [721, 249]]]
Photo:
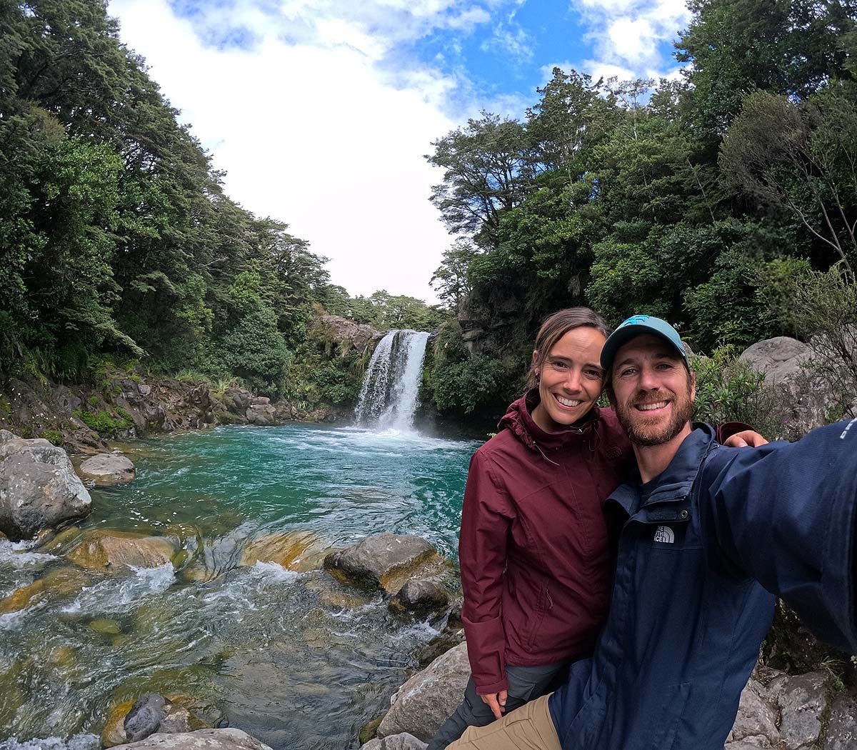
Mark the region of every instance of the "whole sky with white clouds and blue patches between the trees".
[[554, 66], [674, 75], [683, 0], [111, 0], [228, 195], [329, 258], [352, 295], [429, 286], [452, 237], [432, 141], [522, 117]]

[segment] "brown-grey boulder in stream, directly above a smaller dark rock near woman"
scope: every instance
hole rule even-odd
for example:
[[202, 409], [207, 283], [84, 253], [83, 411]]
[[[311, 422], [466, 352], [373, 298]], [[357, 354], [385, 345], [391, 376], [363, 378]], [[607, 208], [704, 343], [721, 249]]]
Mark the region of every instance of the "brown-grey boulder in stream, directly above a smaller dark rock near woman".
[[345, 584], [393, 594], [405, 580], [439, 561], [442, 561], [440, 555], [421, 537], [376, 534], [327, 555], [324, 567]]

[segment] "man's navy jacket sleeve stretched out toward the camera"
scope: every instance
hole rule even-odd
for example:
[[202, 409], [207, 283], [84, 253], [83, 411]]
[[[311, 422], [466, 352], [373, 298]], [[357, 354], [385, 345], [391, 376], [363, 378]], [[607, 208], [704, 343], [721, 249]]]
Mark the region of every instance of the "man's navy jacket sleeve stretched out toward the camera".
[[757, 579], [818, 638], [857, 653], [857, 420], [795, 443], [717, 448], [701, 481], [710, 561]]

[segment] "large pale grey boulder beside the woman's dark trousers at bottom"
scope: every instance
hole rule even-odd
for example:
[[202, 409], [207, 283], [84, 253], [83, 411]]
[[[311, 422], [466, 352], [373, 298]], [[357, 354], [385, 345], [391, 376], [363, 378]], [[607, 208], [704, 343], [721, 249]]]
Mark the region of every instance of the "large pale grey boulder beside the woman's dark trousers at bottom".
[[467, 645], [446, 651], [399, 687], [378, 727], [378, 736], [410, 732], [428, 742], [461, 702], [469, 677]]

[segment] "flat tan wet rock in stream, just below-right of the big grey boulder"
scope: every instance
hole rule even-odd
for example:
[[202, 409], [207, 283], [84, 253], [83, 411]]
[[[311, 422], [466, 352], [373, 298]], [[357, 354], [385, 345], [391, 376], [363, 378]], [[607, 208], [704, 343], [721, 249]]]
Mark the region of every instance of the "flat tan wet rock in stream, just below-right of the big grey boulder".
[[135, 531], [88, 531], [67, 558], [89, 570], [125, 566], [159, 567], [171, 561], [176, 548], [166, 537], [147, 537]]

